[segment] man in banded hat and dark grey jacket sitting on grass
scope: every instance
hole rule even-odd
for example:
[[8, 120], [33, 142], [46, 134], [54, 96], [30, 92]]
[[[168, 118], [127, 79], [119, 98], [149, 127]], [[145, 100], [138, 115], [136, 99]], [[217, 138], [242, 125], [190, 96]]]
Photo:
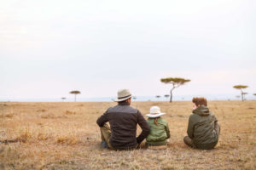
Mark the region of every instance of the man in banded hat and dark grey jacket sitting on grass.
[[[113, 150], [135, 149], [150, 132], [148, 122], [140, 111], [130, 106], [131, 93], [128, 89], [119, 90], [115, 101], [118, 105], [109, 107], [96, 121], [101, 128], [101, 145]], [[106, 122], [109, 122], [110, 128]], [[138, 137], [137, 124], [143, 130]]]

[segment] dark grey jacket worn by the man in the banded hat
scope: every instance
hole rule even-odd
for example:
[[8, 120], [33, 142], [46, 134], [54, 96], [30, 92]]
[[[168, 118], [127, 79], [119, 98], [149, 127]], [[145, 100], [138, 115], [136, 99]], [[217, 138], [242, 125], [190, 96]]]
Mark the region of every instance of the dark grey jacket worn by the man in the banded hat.
[[[109, 122], [111, 128], [110, 144], [116, 149], [135, 148], [148, 136], [150, 127], [143, 115], [128, 103], [121, 103], [108, 108], [102, 116], [97, 119], [97, 124], [102, 127]], [[136, 137], [137, 124], [143, 132]]]

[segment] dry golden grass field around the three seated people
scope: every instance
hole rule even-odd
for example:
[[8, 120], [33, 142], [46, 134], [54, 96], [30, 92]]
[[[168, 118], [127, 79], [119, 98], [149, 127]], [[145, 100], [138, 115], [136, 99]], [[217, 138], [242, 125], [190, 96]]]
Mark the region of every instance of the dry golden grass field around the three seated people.
[[[256, 101], [209, 101], [221, 125], [213, 150], [183, 144], [192, 103], [133, 102], [166, 112], [166, 150], [101, 149], [96, 119], [115, 103], [0, 103], [0, 169], [256, 169]], [[138, 133], [141, 131], [137, 127]]]

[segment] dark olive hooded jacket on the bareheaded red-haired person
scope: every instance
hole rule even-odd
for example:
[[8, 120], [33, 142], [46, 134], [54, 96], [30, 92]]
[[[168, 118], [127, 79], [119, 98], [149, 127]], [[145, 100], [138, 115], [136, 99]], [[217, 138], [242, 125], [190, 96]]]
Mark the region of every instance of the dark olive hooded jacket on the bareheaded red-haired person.
[[189, 116], [188, 135], [193, 139], [195, 147], [212, 149], [218, 143], [218, 133], [214, 130], [217, 118], [209, 111], [207, 106], [201, 105]]

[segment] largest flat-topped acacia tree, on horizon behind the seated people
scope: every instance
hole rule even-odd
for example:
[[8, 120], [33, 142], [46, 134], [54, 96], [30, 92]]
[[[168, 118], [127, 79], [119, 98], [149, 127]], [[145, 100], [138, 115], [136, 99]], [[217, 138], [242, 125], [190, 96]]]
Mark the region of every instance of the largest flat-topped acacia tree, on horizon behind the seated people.
[[179, 77], [168, 77], [168, 78], [161, 78], [160, 79], [161, 82], [166, 83], [166, 84], [172, 84], [172, 89], [170, 91], [170, 102], [172, 102], [172, 91], [175, 88], [180, 87], [181, 85], [183, 85], [186, 82], [190, 82], [189, 79], [184, 79], [184, 78], [179, 78]]

